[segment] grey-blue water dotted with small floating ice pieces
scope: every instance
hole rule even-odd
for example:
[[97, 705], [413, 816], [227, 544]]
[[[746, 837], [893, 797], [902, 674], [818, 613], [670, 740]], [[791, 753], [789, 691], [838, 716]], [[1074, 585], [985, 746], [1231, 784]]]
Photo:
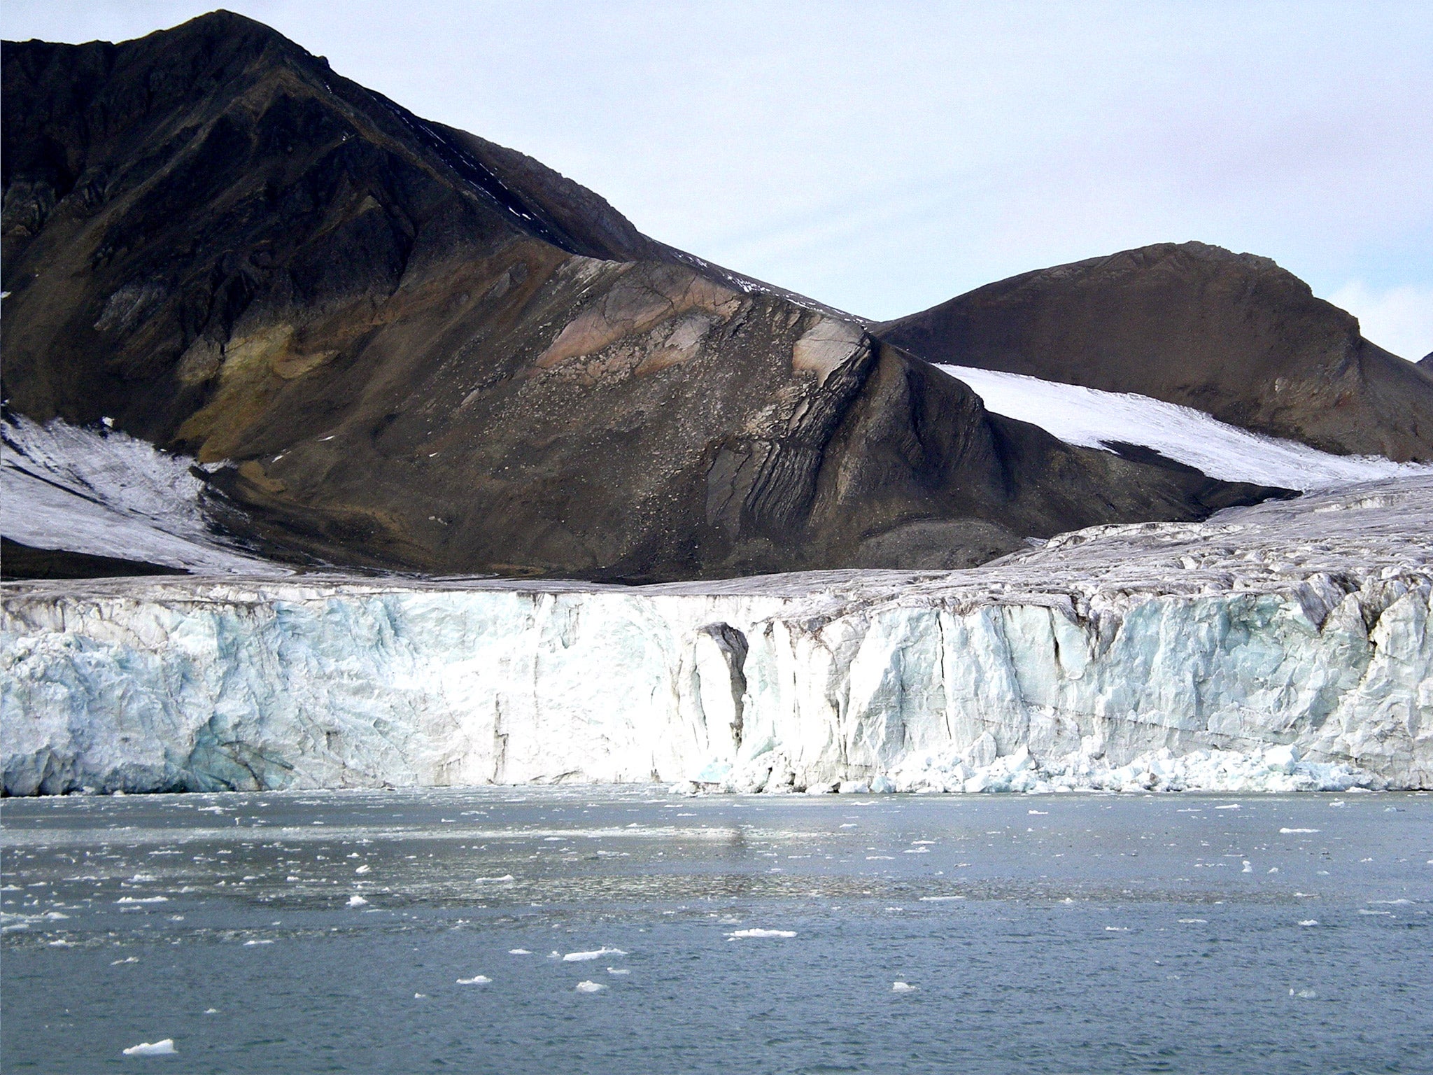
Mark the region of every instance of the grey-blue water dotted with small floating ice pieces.
[[1426, 796], [191, 794], [0, 826], [6, 1072], [1433, 1071]]

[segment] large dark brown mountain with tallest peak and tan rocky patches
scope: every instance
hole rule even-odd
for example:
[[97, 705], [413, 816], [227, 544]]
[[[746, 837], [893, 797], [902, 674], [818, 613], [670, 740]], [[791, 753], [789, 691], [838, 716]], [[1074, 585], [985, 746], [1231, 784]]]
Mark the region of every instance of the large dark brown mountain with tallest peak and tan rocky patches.
[[215, 13], [6, 43], [4, 394], [222, 463], [274, 555], [960, 566], [1273, 490], [1073, 449], [853, 318]]

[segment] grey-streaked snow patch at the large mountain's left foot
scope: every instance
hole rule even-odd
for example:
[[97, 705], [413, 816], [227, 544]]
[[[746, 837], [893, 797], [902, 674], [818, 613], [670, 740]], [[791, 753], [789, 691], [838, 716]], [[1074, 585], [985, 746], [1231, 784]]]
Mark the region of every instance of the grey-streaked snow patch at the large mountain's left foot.
[[193, 460], [110, 430], [7, 416], [0, 533], [36, 549], [163, 563], [192, 572], [277, 573], [219, 539], [201, 509]]

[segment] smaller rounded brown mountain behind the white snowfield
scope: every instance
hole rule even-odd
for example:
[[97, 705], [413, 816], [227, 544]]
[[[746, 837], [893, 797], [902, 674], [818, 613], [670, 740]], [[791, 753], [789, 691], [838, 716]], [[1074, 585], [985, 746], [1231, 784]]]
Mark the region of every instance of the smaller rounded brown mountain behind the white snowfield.
[[1433, 377], [1268, 258], [1158, 244], [1026, 272], [878, 327], [927, 361], [1197, 407], [1326, 452], [1433, 460]]

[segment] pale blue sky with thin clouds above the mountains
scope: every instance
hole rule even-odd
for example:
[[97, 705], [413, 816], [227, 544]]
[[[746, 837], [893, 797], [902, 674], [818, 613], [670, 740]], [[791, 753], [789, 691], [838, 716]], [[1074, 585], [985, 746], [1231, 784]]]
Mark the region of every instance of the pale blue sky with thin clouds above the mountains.
[[[642, 231], [890, 318], [1202, 239], [1433, 351], [1433, 3], [231, 0]], [[4, 0], [7, 39], [211, 4]]]

